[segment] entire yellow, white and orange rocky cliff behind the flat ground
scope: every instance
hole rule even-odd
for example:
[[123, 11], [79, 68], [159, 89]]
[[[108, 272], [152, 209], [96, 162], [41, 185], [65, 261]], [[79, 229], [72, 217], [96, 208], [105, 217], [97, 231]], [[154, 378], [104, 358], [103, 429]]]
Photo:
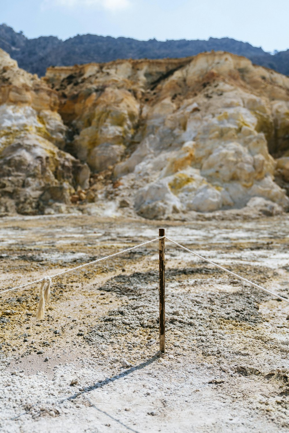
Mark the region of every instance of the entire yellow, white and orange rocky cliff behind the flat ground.
[[1, 56], [0, 194], [10, 208], [47, 213], [71, 200], [179, 219], [261, 198], [287, 209], [289, 78], [211, 52], [49, 68], [39, 81]]

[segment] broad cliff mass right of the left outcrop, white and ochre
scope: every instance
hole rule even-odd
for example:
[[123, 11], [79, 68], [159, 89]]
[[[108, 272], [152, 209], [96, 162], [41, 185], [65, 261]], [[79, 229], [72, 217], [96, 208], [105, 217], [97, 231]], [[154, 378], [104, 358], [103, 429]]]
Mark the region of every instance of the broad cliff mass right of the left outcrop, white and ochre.
[[211, 52], [49, 68], [45, 81], [75, 154], [94, 172], [114, 166], [119, 202], [140, 216], [242, 208], [252, 197], [287, 209], [270, 152], [289, 149], [289, 78]]

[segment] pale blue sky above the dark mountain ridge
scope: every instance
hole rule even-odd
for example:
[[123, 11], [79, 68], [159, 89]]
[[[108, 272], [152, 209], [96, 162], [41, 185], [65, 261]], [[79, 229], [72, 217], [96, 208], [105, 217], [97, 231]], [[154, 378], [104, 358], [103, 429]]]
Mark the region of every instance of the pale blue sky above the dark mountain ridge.
[[234, 39], [289, 48], [289, 0], [0, 0], [0, 23], [29, 38]]

